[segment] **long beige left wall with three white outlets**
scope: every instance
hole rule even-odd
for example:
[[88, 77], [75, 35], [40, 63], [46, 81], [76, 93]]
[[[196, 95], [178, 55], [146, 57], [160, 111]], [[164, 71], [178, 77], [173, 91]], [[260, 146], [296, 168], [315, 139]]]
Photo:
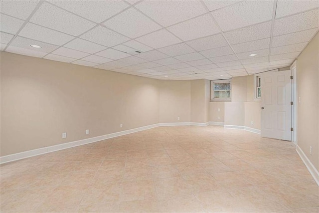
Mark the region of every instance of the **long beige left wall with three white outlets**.
[[159, 122], [158, 80], [6, 52], [0, 57], [1, 156]]

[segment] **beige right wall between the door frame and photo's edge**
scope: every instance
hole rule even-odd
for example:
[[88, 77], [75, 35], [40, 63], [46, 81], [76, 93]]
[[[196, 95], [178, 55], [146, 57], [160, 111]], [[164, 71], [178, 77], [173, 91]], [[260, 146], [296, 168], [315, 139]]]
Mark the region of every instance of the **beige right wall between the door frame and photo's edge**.
[[319, 33], [297, 58], [297, 66], [298, 146], [319, 170]]

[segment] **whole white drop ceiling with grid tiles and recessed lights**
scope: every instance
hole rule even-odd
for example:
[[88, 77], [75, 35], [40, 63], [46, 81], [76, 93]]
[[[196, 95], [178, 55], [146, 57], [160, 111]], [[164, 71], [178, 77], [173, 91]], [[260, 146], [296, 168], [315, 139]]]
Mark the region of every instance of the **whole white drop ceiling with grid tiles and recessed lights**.
[[156, 79], [286, 67], [318, 30], [318, 0], [0, 0], [1, 51]]

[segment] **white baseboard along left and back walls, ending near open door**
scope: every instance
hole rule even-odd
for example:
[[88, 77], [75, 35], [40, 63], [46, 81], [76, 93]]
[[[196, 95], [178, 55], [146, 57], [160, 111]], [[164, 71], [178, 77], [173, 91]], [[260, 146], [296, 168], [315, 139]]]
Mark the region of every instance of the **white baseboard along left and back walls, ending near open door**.
[[94, 142], [98, 142], [98, 141], [102, 141], [102, 140], [106, 140], [106, 139], [110, 139], [110, 138], [114, 138], [114, 137], [118, 137], [118, 136], [122, 136], [122, 135], [127, 135], [127, 134], [131, 134], [134, 132], [140, 132], [143, 130], [148, 130], [148, 129], [152, 129], [152, 128], [160, 127], [160, 126], [161, 127], [163, 127], [163, 126], [202, 126], [202, 127], [205, 127], [208, 125], [224, 126], [224, 128], [243, 129], [243, 130], [247, 130], [247, 131], [254, 132], [254, 133], [258, 133], [258, 131], [260, 132], [260, 130], [257, 130], [257, 129], [252, 129], [252, 128], [248, 128], [248, 127], [244, 127], [244, 126], [224, 125], [223, 122], [214, 122], [214, 121], [210, 121], [207, 123], [197, 123], [197, 122], [158, 123], [158, 124], [152, 124], [152, 125], [148, 125], [148, 126], [144, 126], [144, 127], [138, 127], [135, 129], [124, 130], [121, 132], [115, 132], [115, 133], [111, 133], [111, 134], [107, 134], [107, 135], [97, 136], [97, 137], [93, 137], [93, 138], [87, 138], [87, 139], [83, 139], [83, 140], [72, 141], [72, 142], [68, 142], [68, 143], [63, 143], [63, 144], [58, 144], [58, 145], [54, 145], [54, 146], [43, 147], [43, 148], [39, 148], [39, 149], [34, 149], [34, 150], [25, 151], [25, 152], [19, 152], [19, 153], [15, 153], [15, 154], [11, 154], [11, 155], [2, 156], [2, 157], [0, 157], [0, 164], [8, 163], [11, 161], [17, 161], [20, 159], [29, 158], [29, 157], [33, 157], [33, 156], [37, 156], [37, 155], [42, 155], [45, 153], [55, 152], [55, 151], [59, 151], [59, 150], [63, 150], [63, 149], [68, 149], [71, 147], [77, 147], [77, 146], [81, 146], [84, 144], [90, 144], [90, 143], [94, 143]]

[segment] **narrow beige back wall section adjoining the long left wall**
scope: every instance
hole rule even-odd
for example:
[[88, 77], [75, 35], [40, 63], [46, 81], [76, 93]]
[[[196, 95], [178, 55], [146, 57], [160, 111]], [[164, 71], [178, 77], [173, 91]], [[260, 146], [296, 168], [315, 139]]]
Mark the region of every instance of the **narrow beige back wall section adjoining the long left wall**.
[[160, 81], [159, 120], [190, 122], [190, 81]]

